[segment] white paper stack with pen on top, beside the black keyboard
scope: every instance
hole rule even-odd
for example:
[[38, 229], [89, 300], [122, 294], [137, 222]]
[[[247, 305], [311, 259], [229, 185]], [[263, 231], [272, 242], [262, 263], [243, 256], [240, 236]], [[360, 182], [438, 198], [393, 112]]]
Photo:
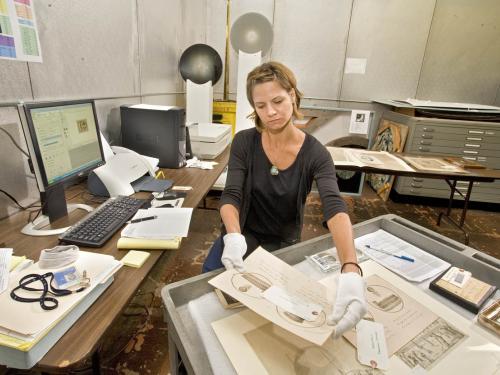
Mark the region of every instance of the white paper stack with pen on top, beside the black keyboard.
[[182, 237], [187, 237], [192, 208], [149, 208], [139, 210], [131, 220], [156, 216], [128, 224], [118, 240], [119, 249], [178, 249]]

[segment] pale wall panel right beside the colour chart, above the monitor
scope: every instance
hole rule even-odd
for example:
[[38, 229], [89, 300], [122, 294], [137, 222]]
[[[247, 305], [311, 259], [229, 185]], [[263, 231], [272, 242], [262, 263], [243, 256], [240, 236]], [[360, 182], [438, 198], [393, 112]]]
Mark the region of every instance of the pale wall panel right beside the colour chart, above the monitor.
[[36, 2], [43, 63], [35, 100], [139, 94], [135, 0]]

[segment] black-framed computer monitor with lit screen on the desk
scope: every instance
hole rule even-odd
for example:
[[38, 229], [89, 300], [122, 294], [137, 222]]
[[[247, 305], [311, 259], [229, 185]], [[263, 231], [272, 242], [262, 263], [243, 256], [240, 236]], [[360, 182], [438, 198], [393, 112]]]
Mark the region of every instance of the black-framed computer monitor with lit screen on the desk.
[[104, 154], [93, 100], [19, 106], [43, 214], [67, 215], [64, 187], [103, 165]]

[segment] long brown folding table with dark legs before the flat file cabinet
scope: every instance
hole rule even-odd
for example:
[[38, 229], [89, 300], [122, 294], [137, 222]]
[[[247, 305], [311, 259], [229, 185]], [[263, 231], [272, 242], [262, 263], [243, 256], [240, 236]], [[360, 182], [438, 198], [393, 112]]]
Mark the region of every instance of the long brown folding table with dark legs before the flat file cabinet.
[[[401, 160], [405, 161], [403, 158], [405, 156], [415, 156], [415, 157], [423, 157], [422, 155], [411, 155], [411, 154], [403, 154], [403, 153], [393, 153], [392, 155], [397, 156]], [[437, 158], [442, 159], [442, 155], [425, 155], [425, 158]], [[406, 163], [406, 162], [405, 162]], [[408, 163], [407, 163], [408, 164]], [[411, 166], [411, 165], [410, 165]], [[394, 169], [386, 169], [383, 167], [358, 167], [352, 165], [335, 165], [337, 170], [349, 170], [349, 171], [360, 171], [365, 173], [377, 173], [377, 174], [388, 174], [395, 176], [409, 176], [409, 177], [422, 177], [422, 178], [434, 178], [445, 180], [448, 186], [450, 187], [450, 197], [448, 199], [448, 207], [446, 211], [441, 212], [437, 218], [437, 225], [441, 224], [441, 220], [444, 218], [448, 220], [451, 224], [460, 229], [465, 235], [465, 244], [469, 244], [469, 233], [463, 228], [465, 223], [465, 216], [467, 214], [467, 208], [469, 205], [470, 196], [472, 194], [472, 187], [474, 182], [493, 182], [495, 180], [500, 180], [500, 170], [496, 169], [466, 169], [465, 172], [434, 172], [434, 171], [426, 171], [419, 170], [412, 166], [414, 171], [406, 171], [406, 170], [394, 170]], [[466, 181], [468, 182], [467, 192], [464, 195], [458, 188], [458, 181]], [[453, 206], [453, 201], [455, 200], [455, 193], [461, 196], [464, 199], [464, 205], [462, 207], [462, 213], [460, 215], [460, 221], [456, 222], [451, 217], [451, 211]]]

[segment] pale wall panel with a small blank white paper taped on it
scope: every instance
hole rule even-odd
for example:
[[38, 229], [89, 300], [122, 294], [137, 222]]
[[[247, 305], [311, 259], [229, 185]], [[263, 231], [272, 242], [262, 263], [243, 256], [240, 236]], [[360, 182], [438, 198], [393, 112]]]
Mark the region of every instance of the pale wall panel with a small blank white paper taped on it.
[[355, 0], [346, 58], [365, 74], [344, 74], [342, 100], [415, 97], [435, 0]]

